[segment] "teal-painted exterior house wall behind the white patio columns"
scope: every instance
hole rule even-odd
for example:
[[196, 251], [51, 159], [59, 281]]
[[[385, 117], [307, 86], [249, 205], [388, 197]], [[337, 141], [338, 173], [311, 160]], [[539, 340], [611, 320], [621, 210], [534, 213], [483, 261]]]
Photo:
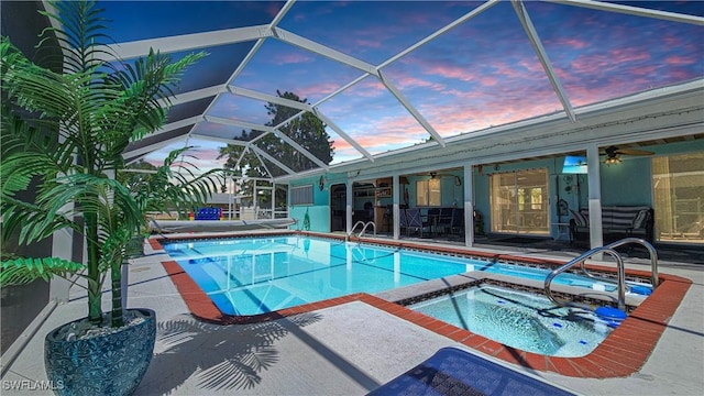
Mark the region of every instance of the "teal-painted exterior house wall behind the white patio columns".
[[[686, 143], [672, 143], [660, 146], [648, 146], [646, 150], [653, 151], [654, 155], [679, 154], [685, 152], [704, 151], [704, 141], [697, 140]], [[601, 191], [603, 206], [650, 206], [652, 207], [652, 176], [651, 176], [651, 156], [624, 156], [624, 161], [618, 165], [601, 164]], [[522, 161], [510, 164], [501, 164], [495, 167], [493, 164], [482, 166], [480, 174], [479, 167], [473, 167], [474, 185], [472, 190], [474, 197], [472, 199], [475, 210], [484, 217], [483, 232], [490, 232], [491, 224], [491, 195], [490, 195], [490, 175], [494, 173], [515, 172], [529, 168], [547, 168], [548, 169], [548, 188], [550, 199], [550, 233], [552, 238], [565, 238], [564, 230], [557, 224], [569, 222], [569, 215], [561, 215], [557, 210], [557, 202], [563, 199], [568, 202], [570, 209], [579, 209], [585, 207], [588, 201], [588, 184], [586, 175], [571, 175], [570, 188], [565, 189], [565, 174], [562, 173], [562, 164], [564, 156], [556, 156], [548, 160]], [[403, 174], [403, 172], [400, 172]], [[457, 172], [462, 179], [462, 174]], [[404, 175], [408, 184], [402, 185], [402, 188], [408, 189], [408, 206], [416, 207], [416, 182], [428, 179], [427, 175]], [[442, 206], [461, 208], [464, 201], [462, 185], [454, 184], [454, 173], [443, 173], [442, 175]], [[301, 178], [292, 180], [290, 186], [300, 186], [305, 184], [314, 185], [314, 205], [289, 207], [293, 218], [299, 220], [298, 229], [302, 229], [302, 219], [308, 212], [310, 218], [310, 230], [329, 232], [330, 231], [330, 194], [329, 186], [332, 184], [344, 184], [348, 180], [338, 175], [326, 176], [326, 187], [321, 191], [318, 188], [318, 177]], [[462, 183], [464, 183], [462, 180]], [[370, 199], [373, 199], [370, 198]], [[400, 195], [400, 204], [404, 204], [403, 193]]]

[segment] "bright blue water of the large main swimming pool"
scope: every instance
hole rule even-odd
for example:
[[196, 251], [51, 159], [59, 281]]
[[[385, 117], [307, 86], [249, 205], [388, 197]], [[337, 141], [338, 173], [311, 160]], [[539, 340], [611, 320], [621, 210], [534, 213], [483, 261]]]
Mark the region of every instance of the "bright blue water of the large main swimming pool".
[[[377, 293], [470, 271], [544, 279], [548, 270], [298, 235], [165, 243], [228, 315], [258, 315], [353, 293]], [[607, 289], [561, 274], [556, 283]]]

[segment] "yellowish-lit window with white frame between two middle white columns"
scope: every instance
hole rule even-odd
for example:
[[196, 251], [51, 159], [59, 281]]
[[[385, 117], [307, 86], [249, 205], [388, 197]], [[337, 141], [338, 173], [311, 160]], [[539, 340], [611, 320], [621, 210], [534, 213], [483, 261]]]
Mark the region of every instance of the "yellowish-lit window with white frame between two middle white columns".
[[548, 169], [491, 175], [492, 231], [550, 233]]

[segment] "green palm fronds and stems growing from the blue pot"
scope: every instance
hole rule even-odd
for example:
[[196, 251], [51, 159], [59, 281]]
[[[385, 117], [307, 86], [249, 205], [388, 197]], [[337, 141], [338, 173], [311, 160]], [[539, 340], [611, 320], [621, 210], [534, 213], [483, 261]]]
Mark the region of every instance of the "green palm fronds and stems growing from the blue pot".
[[[157, 168], [150, 189], [111, 178], [124, 169], [128, 144], [164, 124], [168, 99], [185, 69], [206, 54], [172, 62], [150, 51], [124, 63], [110, 54], [106, 21], [96, 2], [54, 7], [55, 14], [44, 14], [61, 28], [45, 30], [41, 43], [52, 45], [54, 35], [62, 43], [63, 73], [33, 64], [8, 37], [0, 40], [2, 240], [18, 235], [21, 244], [30, 244], [70, 229], [86, 239], [87, 264], [36, 257], [7, 261], [0, 285], [86, 271], [88, 317], [100, 322], [102, 282], [109, 272], [113, 288], [119, 285], [116, 270], [125, 261], [127, 245], [145, 228], [145, 212], [198, 205], [219, 185], [212, 172], [184, 176], [183, 169], [172, 170], [183, 150]], [[35, 189], [35, 196], [28, 199], [28, 189]], [[113, 315], [121, 312], [114, 304], [113, 299]], [[121, 317], [113, 326], [120, 321]]]

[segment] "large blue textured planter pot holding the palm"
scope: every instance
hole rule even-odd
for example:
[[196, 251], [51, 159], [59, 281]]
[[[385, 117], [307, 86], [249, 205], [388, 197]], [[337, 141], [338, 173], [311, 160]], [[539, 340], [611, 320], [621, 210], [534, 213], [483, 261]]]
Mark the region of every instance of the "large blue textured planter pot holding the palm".
[[144, 321], [88, 339], [59, 339], [70, 322], [44, 340], [46, 375], [57, 395], [131, 395], [142, 381], [154, 352], [156, 314], [135, 309]]

